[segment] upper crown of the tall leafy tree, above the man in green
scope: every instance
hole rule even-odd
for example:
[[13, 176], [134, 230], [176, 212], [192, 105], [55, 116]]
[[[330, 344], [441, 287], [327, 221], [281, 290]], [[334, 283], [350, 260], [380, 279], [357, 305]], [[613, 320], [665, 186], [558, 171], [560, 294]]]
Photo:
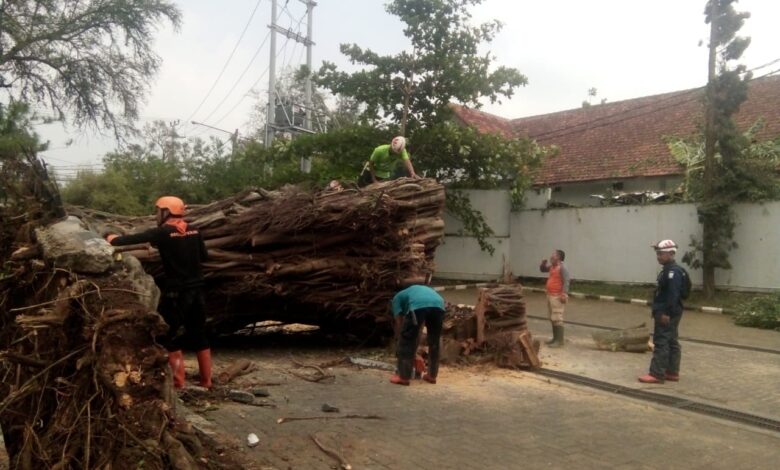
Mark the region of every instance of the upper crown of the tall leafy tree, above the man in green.
[[448, 119], [451, 102], [478, 108], [481, 99], [500, 102], [511, 97], [527, 79], [517, 69], [494, 67], [495, 57], [481, 53], [480, 47], [501, 29], [498, 21], [470, 24], [468, 7], [481, 3], [393, 0], [386, 10], [405, 24], [411, 49], [381, 56], [357, 44], [342, 44], [341, 52], [364, 68], [346, 73], [326, 62], [314, 80], [336, 95], [364, 104], [368, 119], [395, 122], [402, 134], [407, 127]]

